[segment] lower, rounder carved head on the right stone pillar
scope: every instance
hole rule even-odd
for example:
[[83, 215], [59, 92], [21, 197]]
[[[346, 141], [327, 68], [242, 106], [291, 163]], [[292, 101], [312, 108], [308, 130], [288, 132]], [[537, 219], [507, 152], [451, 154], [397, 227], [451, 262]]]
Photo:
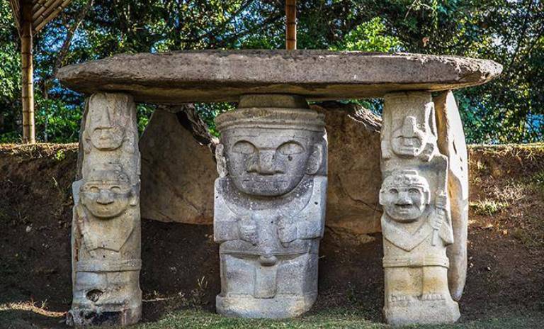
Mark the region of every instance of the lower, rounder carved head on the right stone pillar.
[[380, 204], [399, 222], [420, 218], [431, 202], [429, 182], [416, 170], [399, 170], [387, 176], [380, 189]]

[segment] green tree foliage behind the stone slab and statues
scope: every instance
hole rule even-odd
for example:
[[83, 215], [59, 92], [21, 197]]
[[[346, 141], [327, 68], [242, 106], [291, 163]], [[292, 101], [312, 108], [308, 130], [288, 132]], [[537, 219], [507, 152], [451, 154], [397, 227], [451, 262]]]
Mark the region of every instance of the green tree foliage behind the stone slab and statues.
[[[38, 140], [75, 141], [82, 97], [52, 77], [88, 0], [74, 0], [35, 38]], [[284, 1], [94, 0], [62, 65], [122, 52], [284, 47]], [[299, 49], [422, 52], [495, 60], [499, 79], [455, 91], [469, 143], [544, 140], [544, 3], [509, 0], [299, 0]], [[18, 33], [0, 0], [0, 141], [21, 139]], [[379, 112], [378, 100], [355, 100]], [[139, 106], [140, 130], [152, 106]], [[198, 105], [213, 130], [232, 104]], [[73, 131], [71, 131], [73, 130]]]

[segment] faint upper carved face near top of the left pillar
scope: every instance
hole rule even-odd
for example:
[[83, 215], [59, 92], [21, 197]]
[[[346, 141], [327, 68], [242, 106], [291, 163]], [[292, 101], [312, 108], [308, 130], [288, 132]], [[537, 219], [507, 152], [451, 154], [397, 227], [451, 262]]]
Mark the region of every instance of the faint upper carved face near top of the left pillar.
[[101, 108], [90, 113], [89, 138], [98, 150], [115, 150], [125, 138], [125, 127], [114, 108]]

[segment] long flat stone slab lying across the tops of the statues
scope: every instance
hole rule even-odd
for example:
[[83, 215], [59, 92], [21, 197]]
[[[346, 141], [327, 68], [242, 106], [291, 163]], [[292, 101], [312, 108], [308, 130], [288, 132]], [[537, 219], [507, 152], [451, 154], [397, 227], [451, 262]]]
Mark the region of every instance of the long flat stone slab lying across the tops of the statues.
[[390, 91], [441, 91], [484, 84], [502, 72], [492, 60], [323, 50], [199, 50], [115, 55], [62, 67], [69, 89], [123, 91], [136, 101], [238, 101], [242, 94], [362, 99]]

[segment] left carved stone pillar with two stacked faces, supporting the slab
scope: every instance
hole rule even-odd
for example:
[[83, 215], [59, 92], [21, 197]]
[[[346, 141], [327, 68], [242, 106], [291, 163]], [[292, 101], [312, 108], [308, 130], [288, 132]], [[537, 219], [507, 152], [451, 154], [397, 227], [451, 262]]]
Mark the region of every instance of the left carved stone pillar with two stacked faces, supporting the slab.
[[86, 103], [74, 182], [72, 309], [67, 323], [130, 325], [142, 314], [140, 152], [136, 107], [127, 94]]

